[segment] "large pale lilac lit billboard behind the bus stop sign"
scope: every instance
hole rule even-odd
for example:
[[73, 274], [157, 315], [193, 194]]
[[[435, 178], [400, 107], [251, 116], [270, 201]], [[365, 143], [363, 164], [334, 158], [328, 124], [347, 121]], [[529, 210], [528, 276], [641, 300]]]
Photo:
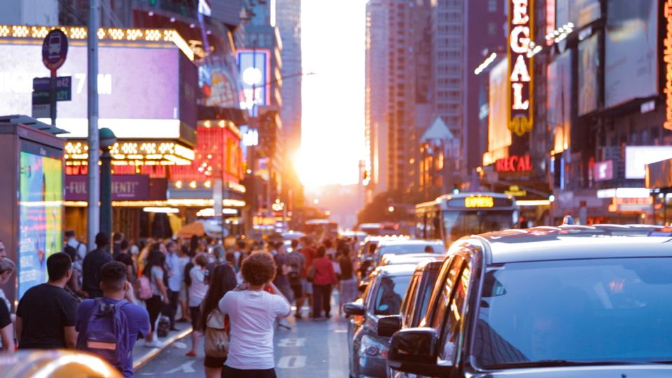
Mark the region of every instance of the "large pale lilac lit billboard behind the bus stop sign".
[[[0, 43], [0, 114], [30, 114], [32, 80], [49, 76], [41, 60], [41, 45]], [[179, 123], [195, 115], [181, 106], [182, 91], [196, 92], [197, 83], [181, 83], [182, 71], [196, 69], [181, 63], [178, 48], [142, 48], [101, 45], [99, 50], [99, 125], [117, 137], [179, 137]], [[186, 57], [184, 58], [186, 59]], [[187, 59], [188, 60], [188, 59]], [[185, 67], [191, 64], [192, 67]], [[71, 44], [59, 76], [72, 76], [72, 100], [59, 102], [57, 126], [69, 137], [87, 135], [87, 52]], [[196, 80], [196, 78], [189, 78]], [[193, 85], [189, 89], [187, 86]]]

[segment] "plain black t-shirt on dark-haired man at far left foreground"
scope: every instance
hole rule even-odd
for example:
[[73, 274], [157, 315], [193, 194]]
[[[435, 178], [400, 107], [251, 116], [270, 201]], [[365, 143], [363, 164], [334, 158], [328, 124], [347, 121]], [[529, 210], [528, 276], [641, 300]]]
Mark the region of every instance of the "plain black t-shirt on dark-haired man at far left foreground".
[[30, 288], [19, 301], [20, 349], [65, 348], [64, 327], [73, 327], [78, 302], [63, 288], [42, 283]]

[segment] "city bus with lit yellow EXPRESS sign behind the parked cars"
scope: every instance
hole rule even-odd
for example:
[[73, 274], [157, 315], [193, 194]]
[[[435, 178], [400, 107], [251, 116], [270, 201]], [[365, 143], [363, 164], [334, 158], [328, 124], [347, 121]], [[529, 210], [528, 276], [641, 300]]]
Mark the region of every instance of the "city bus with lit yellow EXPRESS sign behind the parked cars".
[[442, 195], [434, 201], [416, 204], [415, 236], [419, 239], [441, 239], [449, 246], [465, 235], [516, 228], [518, 216], [516, 200], [510, 195]]

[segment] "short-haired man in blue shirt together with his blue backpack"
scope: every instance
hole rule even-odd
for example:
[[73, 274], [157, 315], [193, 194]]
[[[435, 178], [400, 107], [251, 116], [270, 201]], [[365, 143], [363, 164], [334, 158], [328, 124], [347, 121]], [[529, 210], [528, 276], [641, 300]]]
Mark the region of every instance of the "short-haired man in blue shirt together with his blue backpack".
[[77, 309], [77, 349], [93, 353], [133, 377], [133, 346], [150, 332], [147, 310], [127, 299], [132, 286], [122, 262], [107, 262], [100, 269], [103, 296], [85, 300]]

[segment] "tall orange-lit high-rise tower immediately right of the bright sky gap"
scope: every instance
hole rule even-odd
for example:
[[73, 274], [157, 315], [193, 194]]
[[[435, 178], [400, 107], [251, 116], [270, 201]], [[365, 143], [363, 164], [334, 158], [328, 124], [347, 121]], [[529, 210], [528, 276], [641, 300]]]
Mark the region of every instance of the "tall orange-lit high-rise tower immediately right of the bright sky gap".
[[[426, 72], [430, 66], [419, 38], [426, 33], [427, 1], [370, 0], [366, 17], [365, 138], [369, 192], [411, 190], [417, 183], [416, 111], [430, 111]], [[426, 22], [419, 22], [425, 14]], [[428, 53], [429, 50], [425, 50]], [[424, 85], [419, 83], [424, 82]], [[370, 197], [370, 196], [369, 196]]]

